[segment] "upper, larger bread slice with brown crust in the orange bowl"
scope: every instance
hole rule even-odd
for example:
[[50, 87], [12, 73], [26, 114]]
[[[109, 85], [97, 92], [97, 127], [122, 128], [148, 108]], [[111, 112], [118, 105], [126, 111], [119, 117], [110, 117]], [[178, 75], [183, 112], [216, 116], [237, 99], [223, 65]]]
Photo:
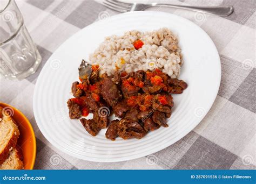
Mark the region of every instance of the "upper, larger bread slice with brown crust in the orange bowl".
[[[0, 111], [1, 108], [0, 108]], [[16, 146], [19, 137], [18, 126], [12, 118], [2, 113], [2, 121], [0, 122], [0, 165], [8, 158], [9, 152]]]

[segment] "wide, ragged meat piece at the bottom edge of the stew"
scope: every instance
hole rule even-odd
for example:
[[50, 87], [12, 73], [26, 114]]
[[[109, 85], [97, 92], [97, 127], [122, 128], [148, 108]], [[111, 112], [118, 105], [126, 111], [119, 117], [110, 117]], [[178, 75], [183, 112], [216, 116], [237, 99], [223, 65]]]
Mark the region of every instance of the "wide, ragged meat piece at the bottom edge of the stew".
[[137, 138], [140, 139], [146, 135], [146, 131], [138, 122], [122, 119], [118, 123], [118, 136], [123, 139]]

